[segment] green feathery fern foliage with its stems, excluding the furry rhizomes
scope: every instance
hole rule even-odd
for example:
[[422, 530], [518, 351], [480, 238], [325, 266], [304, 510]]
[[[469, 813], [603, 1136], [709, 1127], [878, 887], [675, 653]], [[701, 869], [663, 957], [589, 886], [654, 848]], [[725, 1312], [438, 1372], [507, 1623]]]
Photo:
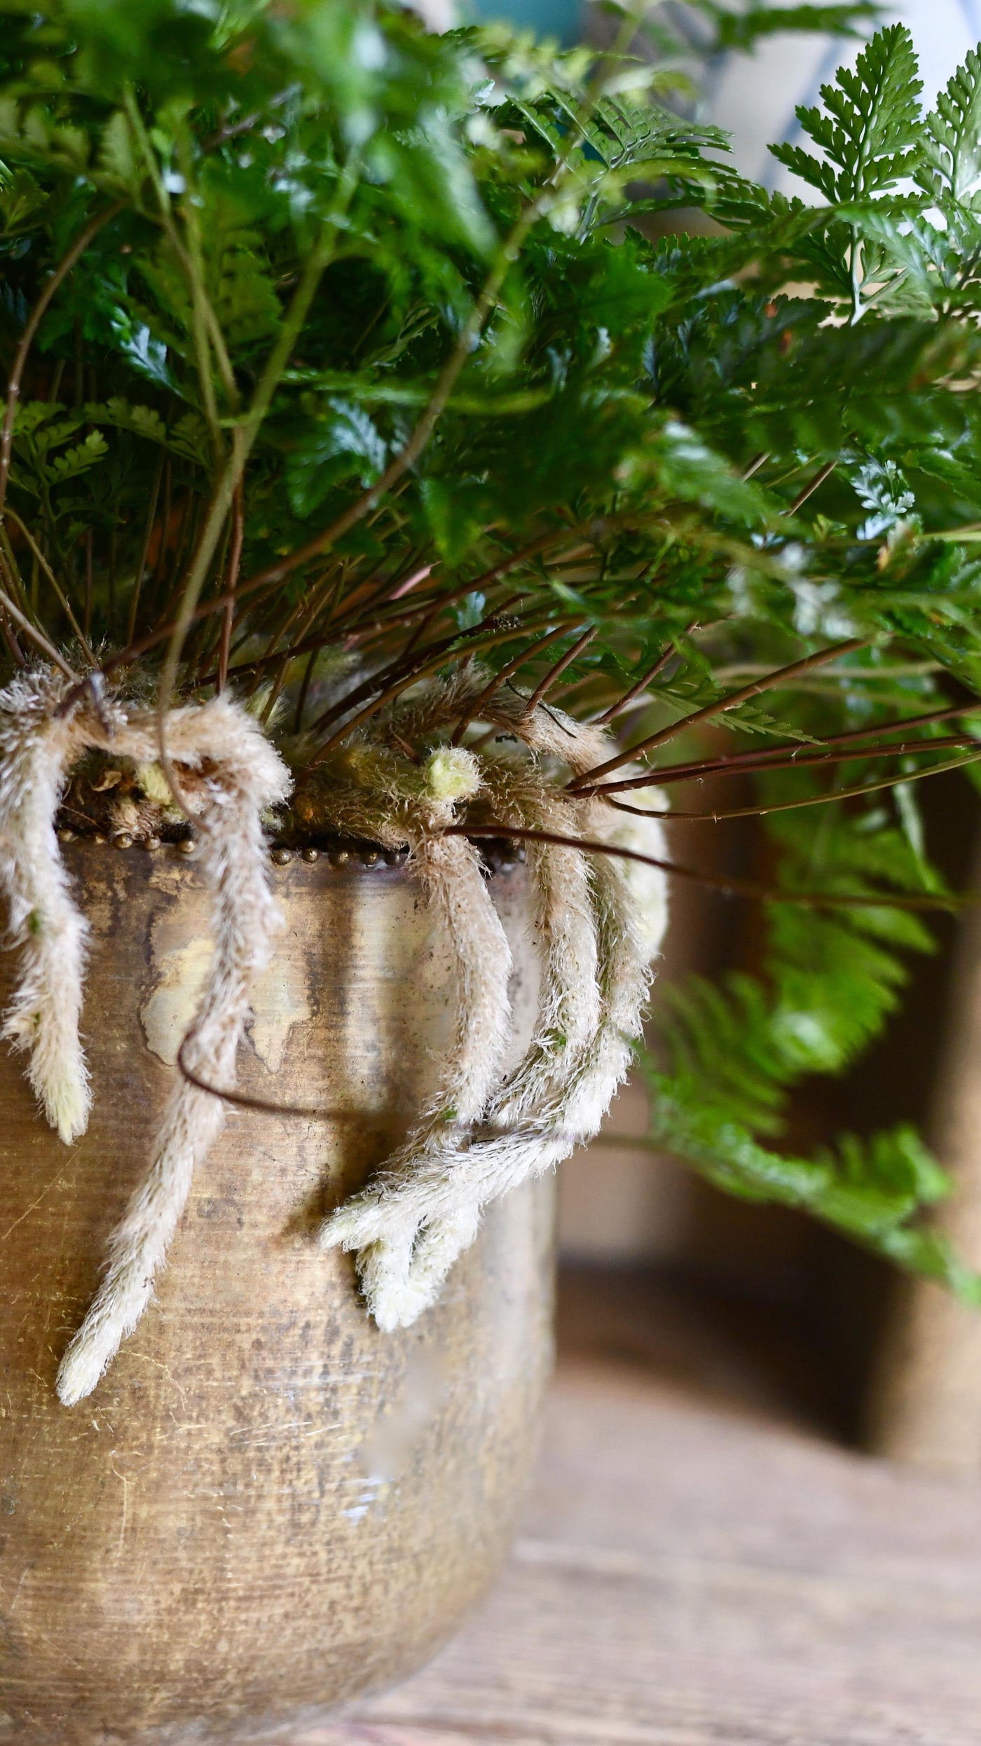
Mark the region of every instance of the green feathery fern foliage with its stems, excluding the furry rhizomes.
[[[705, 7], [730, 45], [869, 10]], [[698, 817], [712, 775], [777, 850], [766, 959], [672, 993], [651, 1144], [974, 1299], [908, 1128], [763, 1142], [960, 901], [916, 782], [967, 807], [981, 756], [978, 56], [923, 112], [880, 30], [773, 148], [808, 204], [662, 105], [632, 12], [597, 52], [370, 0], [0, 17], [7, 672], [230, 686], [300, 794], [475, 662], [485, 711], [618, 723], [574, 800]]]

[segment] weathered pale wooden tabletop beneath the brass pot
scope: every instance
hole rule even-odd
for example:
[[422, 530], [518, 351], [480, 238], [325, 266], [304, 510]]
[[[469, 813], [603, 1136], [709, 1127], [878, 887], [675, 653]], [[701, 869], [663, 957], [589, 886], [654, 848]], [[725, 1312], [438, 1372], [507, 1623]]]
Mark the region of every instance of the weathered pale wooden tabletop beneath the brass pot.
[[716, 1348], [580, 1343], [490, 1599], [292, 1746], [979, 1746], [981, 1486], [834, 1446]]

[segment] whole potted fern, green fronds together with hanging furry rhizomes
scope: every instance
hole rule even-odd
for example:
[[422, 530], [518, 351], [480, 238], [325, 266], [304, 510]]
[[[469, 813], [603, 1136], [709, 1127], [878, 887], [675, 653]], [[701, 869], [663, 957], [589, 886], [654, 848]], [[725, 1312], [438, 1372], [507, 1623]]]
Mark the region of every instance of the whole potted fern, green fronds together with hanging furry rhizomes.
[[[382, 1327], [595, 1133], [632, 1049], [653, 1154], [981, 1299], [909, 1123], [780, 1151], [964, 901], [916, 794], [958, 770], [967, 803], [981, 756], [981, 58], [925, 108], [876, 31], [773, 148], [799, 197], [672, 108], [663, 9], [613, 14], [562, 51], [389, 0], [0, 0], [3, 1030], [65, 1142], [99, 1088], [58, 833], [194, 838], [215, 903], [66, 1400], [236, 1095], [269, 856], [332, 842], [408, 857], [457, 990], [433, 1098], [319, 1233]], [[813, 30], [703, 14], [709, 59]], [[662, 791], [758, 821], [745, 873], [669, 857]], [[525, 847], [541, 952], [508, 1070], [487, 836]], [[763, 925], [646, 1044], [669, 875]]]

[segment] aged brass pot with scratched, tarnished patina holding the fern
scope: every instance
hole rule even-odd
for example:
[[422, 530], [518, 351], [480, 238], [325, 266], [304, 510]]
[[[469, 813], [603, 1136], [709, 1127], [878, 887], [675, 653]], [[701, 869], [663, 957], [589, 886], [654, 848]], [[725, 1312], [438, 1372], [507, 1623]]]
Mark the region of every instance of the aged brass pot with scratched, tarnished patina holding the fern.
[[[368, 1322], [314, 1231], [433, 1083], [449, 962], [405, 871], [276, 868], [239, 1084], [332, 1117], [230, 1112], [157, 1299], [61, 1407], [209, 955], [194, 861], [66, 857], [93, 925], [86, 1138], [61, 1145], [0, 1058], [0, 1746], [278, 1739], [424, 1660], [503, 1557], [550, 1362], [550, 1184], [490, 1208], [415, 1327]], [[522, 876], [492, 889], [518, 957]]]

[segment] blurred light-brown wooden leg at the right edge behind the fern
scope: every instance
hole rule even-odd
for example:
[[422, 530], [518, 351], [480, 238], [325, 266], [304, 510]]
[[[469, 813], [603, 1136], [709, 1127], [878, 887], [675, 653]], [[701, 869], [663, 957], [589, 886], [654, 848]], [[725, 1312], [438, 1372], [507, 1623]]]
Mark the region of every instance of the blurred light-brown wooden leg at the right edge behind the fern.
[[[972, 889], [981, 890], [981, 847]], [[981, 1268], [981, 908], [960, 922], [930, 1140], [955, 1179], [939, 1222], [964, 1261]], [[868, 1423], [876, 1454], [981, 1474], [981, 1313], [937, 1285], [901, 1282]]]

